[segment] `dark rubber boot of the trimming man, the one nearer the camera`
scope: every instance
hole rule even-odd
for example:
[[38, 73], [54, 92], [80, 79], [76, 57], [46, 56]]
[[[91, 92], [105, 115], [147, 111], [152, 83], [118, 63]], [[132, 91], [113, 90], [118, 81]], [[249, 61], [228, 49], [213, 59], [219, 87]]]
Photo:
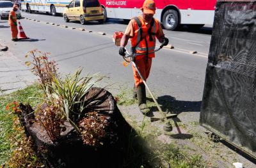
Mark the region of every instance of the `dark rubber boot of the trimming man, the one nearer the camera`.
[[141, 84], [137, 87], [137, 98], [138, 98], [138, 106], [143, 115], [146, 115], [150, 109], [146, 104], [146, 89], [145, 85]]

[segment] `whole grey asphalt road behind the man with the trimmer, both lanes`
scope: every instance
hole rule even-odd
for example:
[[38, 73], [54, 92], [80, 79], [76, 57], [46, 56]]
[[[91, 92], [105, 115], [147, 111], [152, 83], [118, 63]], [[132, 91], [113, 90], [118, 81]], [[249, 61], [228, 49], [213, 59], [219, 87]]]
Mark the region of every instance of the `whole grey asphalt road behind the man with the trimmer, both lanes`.
[[[24, 55], [37, 48], [42, 52], [51, 52], [51, 58], [60, 65], [62, 73], [72, 73], [83, 67], [84, 74], [97, 73], [107, 76], [105, 85], [133, 86], [131, 67], [122, 66], [122, 57], [118, 47], [113, 44], [114, 31], [124, 31], [126, 24], [122, 20], [110, 20], [104, 25], [91, 22], [81, 25], [78, 22], [65, 23], [62, 17], [52, 17], [42, 13], [22, 13], [23, 17], [40, 20], [22, 19], [22, 27], [29, 36], [26, 41], [11, 41], [7, 20], [1, 20], [0, 39], [9, 46], [19, 59], [26, 61]], [[54, 22], [60, 26], [45, 24]], [[61, 25], [68, 25], [63, 28]], [[85, 28], [86, 31], [70, 29]], [[106, 32], [100, 36], [97, 32]], [[175, 46], [175, 50], [163, 49], [157, 53], [152, 65], [148, 85], [157, 95], [172, 95], [182, 101], [201, 101], [204, 89], [207, 51], [211, 41], [211, 30], [204, 28], [200, 32], [164, 31]], [[189, 54], [190, 50], [200, 53]]]

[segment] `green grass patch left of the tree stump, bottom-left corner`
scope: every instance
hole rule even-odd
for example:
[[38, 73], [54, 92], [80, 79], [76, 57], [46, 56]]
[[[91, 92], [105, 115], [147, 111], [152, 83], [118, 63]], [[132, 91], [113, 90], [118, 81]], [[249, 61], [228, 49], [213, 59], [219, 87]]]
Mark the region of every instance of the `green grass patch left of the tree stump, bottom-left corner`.
[[[36, 97], [38, 97], [36, 99]], [[40, 97], [40, 98], [39, 98]], [[31, 104], [31, 106], [35, 106], [42, 100], [42, 93], [40, 92], [40, 88], [37, 85], [31, 85], [23, 90], [18, 90], [13, 92], [12, 94], [2, 95], [0, 97], [0, 165], [6, 164], [8, 160], [13, 160], [14, 162], [19, 162], [21, 160], [17, 160], [17, 153], [25, 152], [26, 156], [22, 156], [27, 158], [26, 162], [30, 164], [35, 164], [37, 162], [35, 153], [33, 151], [24, 151], [25, 148], [18, 148], [18, 146], [29, 146], [29, 143], [24, 141], [28, 141], [24, 134], [24, 129], [20, 127], [19, 118], [17, 115], [13, 114], [10, 111], [6, 110], [6, 105], [10, 102], [17, 101], [22, 102], [24, 104]], [[28, 145], [26, 145], [26, 144]], [[32, 152], [32, 153], [31, 153]], [[15, 158], [16, 157], [16, 158]], [[31, 159], [29, 161], [29, 159]], [[19, 164], [19, 167], [27, 167], [28, 165]], [[8, 164], [9, 165], [9, 164]], [[10, 164], [8, 167], [13, 167]]]

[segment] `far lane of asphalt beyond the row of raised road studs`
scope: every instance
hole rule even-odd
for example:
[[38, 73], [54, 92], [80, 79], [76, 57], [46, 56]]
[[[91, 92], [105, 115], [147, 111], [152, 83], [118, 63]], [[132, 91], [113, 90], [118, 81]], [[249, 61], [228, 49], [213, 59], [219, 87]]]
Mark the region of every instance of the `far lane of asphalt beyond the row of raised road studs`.
[[[52, 17], [51, 15], [46, 15], [45, 13], [22, 13], [23, 17], [35, 18], [36, 20], [44, 20], [45, 22], [54, 22], [56, 24], [65, 24], [72, 27], [83, 27], [88, 31], [101, 31], [106, 32], [109, 36], [113, 35], [114, 31], [124, 31], [127, 26], [127, 22], [123, 20], [113, 20], [109, 19], [108, 22], [104, 24], [98, 24], [97, 22], [89, 22], [86, 25], [79, 24], [78, 21], [70, 21], [68, 23], [64, 22], [63, 17]], [[108, 26], [105, 26], [108, 25]], [[211, 25], [207, 25], [199, 31], [189, 31], [186, 26], [184, 26], [180, 31], [165, 31], [164, 34], [170, 39], [172, 45], [175, 48], [179, 48], [182, 51], [195, 50], [203, 55], [208, 55], [209, 46], [211, 41]]]

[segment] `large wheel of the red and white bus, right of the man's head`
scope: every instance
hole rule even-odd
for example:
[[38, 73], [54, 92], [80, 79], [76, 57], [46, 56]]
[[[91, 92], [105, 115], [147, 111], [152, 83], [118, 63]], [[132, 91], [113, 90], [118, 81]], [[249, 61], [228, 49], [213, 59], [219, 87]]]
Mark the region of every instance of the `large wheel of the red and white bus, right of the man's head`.
[[175, 10], [165, 11], [162, 20], [164, 29], [168, 31], [177, 29], [179, 25], [179, 15]]

